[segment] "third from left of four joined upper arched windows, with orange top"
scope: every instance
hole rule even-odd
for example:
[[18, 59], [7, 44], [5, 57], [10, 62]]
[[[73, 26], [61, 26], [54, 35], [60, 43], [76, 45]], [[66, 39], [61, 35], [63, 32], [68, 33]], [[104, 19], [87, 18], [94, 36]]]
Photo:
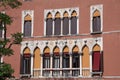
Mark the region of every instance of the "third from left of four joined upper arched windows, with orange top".
[[68, 35], [69, 34], [69, 15], [65, 11], [63, 15], [63, 35]]

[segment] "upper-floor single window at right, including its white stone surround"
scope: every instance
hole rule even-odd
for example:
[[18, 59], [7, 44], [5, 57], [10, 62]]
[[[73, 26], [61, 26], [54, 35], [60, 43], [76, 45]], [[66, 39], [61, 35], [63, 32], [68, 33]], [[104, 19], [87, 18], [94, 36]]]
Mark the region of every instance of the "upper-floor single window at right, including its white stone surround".
[[91, 6], [91, 33], [101, 33], [103, 28], [102, 5]]

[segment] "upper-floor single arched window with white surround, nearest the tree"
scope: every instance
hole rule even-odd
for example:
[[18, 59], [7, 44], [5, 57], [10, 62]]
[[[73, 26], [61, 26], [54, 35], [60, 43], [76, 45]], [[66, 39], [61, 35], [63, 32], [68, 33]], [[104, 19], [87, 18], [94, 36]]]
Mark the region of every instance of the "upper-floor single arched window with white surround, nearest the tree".
[[33, 11], [23, 11], [22, 32], [23, 32], [24, 37], [32, 37], [33, 35]]

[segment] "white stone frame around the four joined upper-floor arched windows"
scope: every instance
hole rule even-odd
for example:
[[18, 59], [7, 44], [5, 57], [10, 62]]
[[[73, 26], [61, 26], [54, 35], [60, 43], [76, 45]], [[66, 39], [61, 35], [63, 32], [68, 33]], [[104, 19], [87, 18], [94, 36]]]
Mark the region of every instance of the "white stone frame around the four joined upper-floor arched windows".
[[[71, 14], [72, 12], [76, 12], [77, 15], [76, 15], [76, 25], [77, 25], [77, 30], [75, 32], [75, 34], [71, 34]], [[61, 26], [60, 26], [60, 31], [58, 31], [59, 33], [55, 33], [55, 19], [56, 18], [56, 13], [59, 12], [60, 13], [60, 20], [61, 20]], [[64, 19], [64, 12], [67, 12], [69, 15], [68, 15], [68, 18], [69, 18], [69, 33], [67, 34], [63, 34], [63, 19]], [[52, 36], [67, 36], [67, 35], [78, 35], [79, 34], [79, 8], [78, 7], [75, 7], [75, 8], [64, 8], [64, 9], [50, 9], [50, 10], [44, 10], [44, 36], [47, 37], [46, 35], [46, 19], [47, 19], [47, 15], [48, 13], [51, 13], [52, 14], [52, 19], [53, 19], [53, 33], [52, 33]]]

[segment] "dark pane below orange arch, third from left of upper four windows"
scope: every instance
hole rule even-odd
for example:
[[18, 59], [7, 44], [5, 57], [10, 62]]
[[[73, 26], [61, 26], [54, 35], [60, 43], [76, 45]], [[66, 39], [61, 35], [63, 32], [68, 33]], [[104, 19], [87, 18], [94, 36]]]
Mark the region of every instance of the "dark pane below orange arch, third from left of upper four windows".
[[69, 34], [69, 18], [64, 17], [63, 19], [63, 35]]

